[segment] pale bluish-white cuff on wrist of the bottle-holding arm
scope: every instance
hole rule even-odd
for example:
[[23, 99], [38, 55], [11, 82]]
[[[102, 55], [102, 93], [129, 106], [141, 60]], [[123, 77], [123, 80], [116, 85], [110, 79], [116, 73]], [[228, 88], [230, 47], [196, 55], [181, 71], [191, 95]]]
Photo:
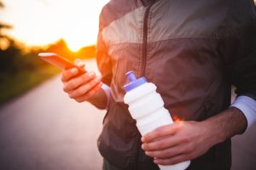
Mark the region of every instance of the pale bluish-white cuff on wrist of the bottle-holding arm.
[[247, 119], [247, 130], [253, 126], [253, 123], [256, 122], [256, 100], [241, 95], [236, 98], [231, 106], [242, 111]]

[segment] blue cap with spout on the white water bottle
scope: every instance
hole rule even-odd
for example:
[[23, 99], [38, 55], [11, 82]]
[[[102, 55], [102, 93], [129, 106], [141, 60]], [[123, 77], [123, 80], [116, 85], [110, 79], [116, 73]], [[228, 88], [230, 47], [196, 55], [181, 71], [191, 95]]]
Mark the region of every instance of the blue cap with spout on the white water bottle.
[[133, 71], [128, 71], [125, 75], [128, 78], [128, 80], [130, 81], [130, 83], [128, 83], [124, 86], [125, 92], [129, 92], [132, 89], [137, 88], [140, 85], [142, 85], [143, 83], [147, 82], [145, 77], [140, 77], [137, 79], [135, 77], [135, 75], [133, 74]]

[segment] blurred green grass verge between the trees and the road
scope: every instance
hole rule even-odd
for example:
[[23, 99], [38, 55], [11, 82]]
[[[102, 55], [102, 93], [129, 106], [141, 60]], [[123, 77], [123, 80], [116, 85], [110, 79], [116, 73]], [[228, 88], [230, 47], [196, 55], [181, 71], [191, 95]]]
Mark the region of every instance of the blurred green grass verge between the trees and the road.
[[37, 71], [20, 71], [17, 74], [2, 73], [0, 75], [0, 106], [10, 99], [25, 94], [29, 89], [59, 72], [60, 70], [54, 66], [47, 65]]

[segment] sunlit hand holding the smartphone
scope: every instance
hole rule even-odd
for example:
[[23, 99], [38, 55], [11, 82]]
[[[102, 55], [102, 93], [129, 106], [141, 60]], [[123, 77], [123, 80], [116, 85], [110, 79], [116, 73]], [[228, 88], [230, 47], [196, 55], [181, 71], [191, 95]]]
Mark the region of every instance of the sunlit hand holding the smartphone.
[[[75, 65], [84, 68], [84, 62], [81, 59], [75, 60]], [[77, 76], [79, 70], [71, 68], [62, 71], [61, 81], [63, 82], [63, 91], [71, 99], [81, 103], [87, 101], [102, 87], [101, 77], [96, 77], [95, 72], [86, 72]]]

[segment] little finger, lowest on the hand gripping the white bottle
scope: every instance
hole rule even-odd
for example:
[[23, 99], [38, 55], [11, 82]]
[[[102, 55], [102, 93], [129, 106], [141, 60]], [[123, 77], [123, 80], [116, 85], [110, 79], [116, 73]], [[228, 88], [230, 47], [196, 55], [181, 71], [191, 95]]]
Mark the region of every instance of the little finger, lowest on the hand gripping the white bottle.
[[182, 155], [173, 156], [167, 159], [155, 158], [154, 163], [159, 165], [173, 165], [173, 164], [180, 163], [182, 161], [189, 161], [191, 159], [190, 157], [191, 157], [190, 154], [182, 154]]

